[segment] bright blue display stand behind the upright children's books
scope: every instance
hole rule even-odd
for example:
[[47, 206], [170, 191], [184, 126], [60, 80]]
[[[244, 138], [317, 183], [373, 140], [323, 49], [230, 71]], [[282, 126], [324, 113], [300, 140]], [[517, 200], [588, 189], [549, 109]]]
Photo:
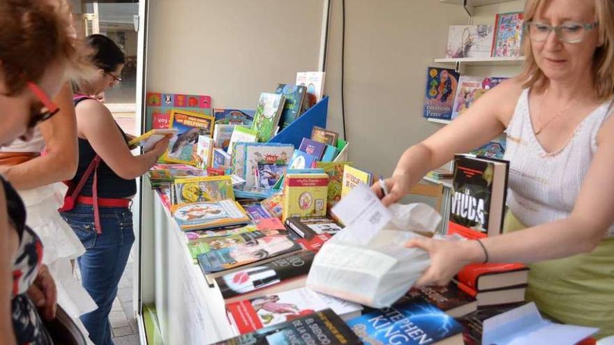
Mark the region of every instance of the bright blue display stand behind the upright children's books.
[[303, 138], [311, 137], [313, 126], [326, 128], [326, 120], [329, 109], [329, 97], [324, 96], [320, 102], [292, 121], [289, 126], [269, 140], [269, 143], [292, 144], [294, 148], [301, 146]]

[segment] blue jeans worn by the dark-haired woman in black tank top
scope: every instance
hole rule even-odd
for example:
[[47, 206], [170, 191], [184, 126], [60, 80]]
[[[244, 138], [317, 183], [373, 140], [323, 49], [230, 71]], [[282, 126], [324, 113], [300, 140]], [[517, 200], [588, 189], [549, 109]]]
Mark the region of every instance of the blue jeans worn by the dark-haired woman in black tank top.
[[109, 313], [135, 240], [132, 212], [123, 207], [101, 207], [103, 231], [100, 234], [94, 227], [92, 206], [77, 204], [73, 210], [61, 214], [86, 249], [77, 259], [81, 284], [98, 305], [98, 309], [83, 314], [80, 319], [94, 344], [111, 345]]

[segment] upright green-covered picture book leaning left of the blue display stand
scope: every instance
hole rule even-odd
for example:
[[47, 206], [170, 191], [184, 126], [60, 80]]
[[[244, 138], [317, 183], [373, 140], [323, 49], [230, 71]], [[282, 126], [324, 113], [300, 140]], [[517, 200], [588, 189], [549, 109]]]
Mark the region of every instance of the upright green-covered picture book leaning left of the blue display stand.
[[276, 93], [261, 93], [252, 130], [258, 133], [258, 141], [267, 142], [274, 136], [283, 111], [285, 97]]

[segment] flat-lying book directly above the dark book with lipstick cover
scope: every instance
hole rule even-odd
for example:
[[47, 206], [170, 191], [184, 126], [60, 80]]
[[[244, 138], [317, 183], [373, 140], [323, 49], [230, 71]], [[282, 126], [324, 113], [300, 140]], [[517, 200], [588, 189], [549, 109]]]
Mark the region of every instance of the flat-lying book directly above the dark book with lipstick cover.
[[[294, 242], [285, 231], [267, 232], [260, 231], [256, 237], [253, 236], [254, 233], [241, 233], [234, 239], [231, 246], [214, 248], [214, 250], [199, 254], [198, 263], [202, 273], [209, 275], [209, 279], [215, 279], [225, 274], [223, 273], [225, 270], [260, 261], [265, 263], [264, 259], [267, 259], [268, 262], [280, 255], [288, 256], [301, 251], [301, 246]], [[211, 273], [221, 274], [210, 275]]]

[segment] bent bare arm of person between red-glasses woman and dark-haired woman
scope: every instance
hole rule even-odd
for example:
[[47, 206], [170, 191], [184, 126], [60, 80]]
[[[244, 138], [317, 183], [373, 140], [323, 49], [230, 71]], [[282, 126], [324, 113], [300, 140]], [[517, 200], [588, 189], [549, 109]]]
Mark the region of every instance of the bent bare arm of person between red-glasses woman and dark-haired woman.
[[77, 122], [73, 91], [66, 83], [54, 100], [60, 111], [38, 125], [47, 155], [7, 167], [3, 175], [17, 190], [70, 180], [77, 171]]

